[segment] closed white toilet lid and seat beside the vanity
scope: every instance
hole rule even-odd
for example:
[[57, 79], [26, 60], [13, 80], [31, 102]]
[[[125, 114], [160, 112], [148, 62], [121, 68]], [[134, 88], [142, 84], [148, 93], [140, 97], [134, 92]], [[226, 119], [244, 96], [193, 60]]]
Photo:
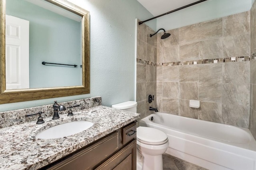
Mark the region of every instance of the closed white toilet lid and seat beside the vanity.
[[155, 128], [138, 127], [137, 140], [144, 144], [160, 145], [168, 141], [168, 136], [161, 130]]

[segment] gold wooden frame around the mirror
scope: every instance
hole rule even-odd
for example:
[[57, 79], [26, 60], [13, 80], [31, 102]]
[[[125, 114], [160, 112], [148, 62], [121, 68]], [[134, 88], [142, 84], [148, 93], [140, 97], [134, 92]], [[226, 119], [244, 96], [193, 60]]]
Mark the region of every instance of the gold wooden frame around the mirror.
[[90, 15], [66, 1], [45, 0], [82, 17], [82, 86], [6, 90], [5, 15], [6, 0], [0, 0], [0, 104], [81, 95], [90, 93]]

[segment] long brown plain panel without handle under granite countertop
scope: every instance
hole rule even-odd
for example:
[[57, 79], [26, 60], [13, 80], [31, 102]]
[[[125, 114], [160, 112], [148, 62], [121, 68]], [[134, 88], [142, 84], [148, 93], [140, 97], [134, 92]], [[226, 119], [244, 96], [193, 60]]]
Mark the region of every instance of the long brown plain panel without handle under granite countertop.
[[96, 142], [70, 158], [49, 168], [49, 170], [87, 170], [118, 150], [118, 132]]

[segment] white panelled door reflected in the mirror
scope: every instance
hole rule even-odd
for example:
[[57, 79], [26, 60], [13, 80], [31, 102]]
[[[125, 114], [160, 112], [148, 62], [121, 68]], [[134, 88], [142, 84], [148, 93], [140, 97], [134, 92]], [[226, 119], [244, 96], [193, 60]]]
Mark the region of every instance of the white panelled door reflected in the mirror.
[[6, 15], [6, 90], [29, 89], [29, 21]]

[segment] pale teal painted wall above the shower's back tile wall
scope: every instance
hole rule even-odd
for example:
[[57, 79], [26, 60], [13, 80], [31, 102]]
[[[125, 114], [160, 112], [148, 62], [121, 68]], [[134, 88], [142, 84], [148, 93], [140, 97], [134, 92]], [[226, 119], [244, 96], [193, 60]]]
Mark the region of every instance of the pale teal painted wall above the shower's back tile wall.
[[[172, 30], [249, 11], [254, 0], [207, 0], [157, 19], [157, 29]], [[166, 11], [167, 12], [167, 11]]]

